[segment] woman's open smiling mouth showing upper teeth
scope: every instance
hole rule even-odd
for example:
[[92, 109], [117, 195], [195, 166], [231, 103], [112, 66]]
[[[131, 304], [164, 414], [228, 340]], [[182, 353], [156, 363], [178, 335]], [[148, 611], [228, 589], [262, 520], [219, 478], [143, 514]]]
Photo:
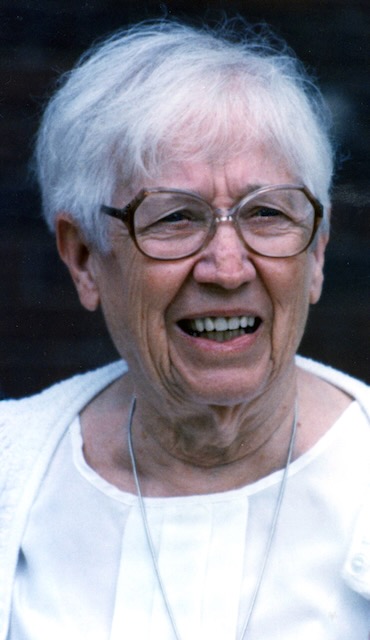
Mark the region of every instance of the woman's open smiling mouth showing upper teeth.
[[180, 320], [179, 327], [193, 338], [228, 342], [257, 331], [262, 320], [257, 316], [205, 316]]

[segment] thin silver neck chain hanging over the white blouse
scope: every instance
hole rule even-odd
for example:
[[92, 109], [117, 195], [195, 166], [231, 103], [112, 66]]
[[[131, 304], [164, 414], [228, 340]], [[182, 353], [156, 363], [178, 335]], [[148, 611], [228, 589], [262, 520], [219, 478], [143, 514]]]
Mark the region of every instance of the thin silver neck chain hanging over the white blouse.
[[[134, 412], [135, 412], [135, 406], [136, 406], [136, 398], [135, 396], [132, 398], [131, 401], [131, 407], [130, 407], [130, 412], [129, 412], [129, 418], [128, 418], [128, 429], [127, 429], [127, 437], [128, 437], [128, 450], [129, 450], [129, 455], [130, 455], [130, 461], [131, 461], [131, 466], [132, 466], [132, 472], [134, 475], [134, 480], [135, 480], [135, 485], [136, 485], [136, 491], [137, 491], [137, 496], [138, 496], [138, 500], [139, 500], [139, 506], [140, 506], [140, 512], [141, 512], [141, 517], [142, 517], [142, 522], [143, 522], [143, 528], [145, 531], [145, 537], [146, 537], [146, 541], [147, 541], [147, 545], [150, 551], [150, 555], [151, 555], [151, 559], [152, 559], [152, 563], [153, 563], [153, 569], [154, 569], [154, 573], [156, 575], [157, 578], [157, 582], [159, 585], [159, 589], [161, 591], [162, 594], [162, 598], [163, 598], [163, 602], [164, 605], [166, 607], [167, 610], [167, 614], [169, 617], [169, 620], [171, 622], [172, 625], [172, 629], [174, 632], [174, 636], [176, 638], [176, 640], [181, 640], [181, 636], [179, 634], [179, 631], [177, 629], [177, 625], [176, 625], [176, 621], [173, 615], [173, 611], [171, 609], [168, 597], [167, 597], [167, 593], [163, 584], [163, 580], [159, 571], [159, 565], [158, 565], [158, 561], [157, 561], [157, 556], [156, 556], [156, 552], [154, 549], [154, 544], [153, 544], [153, 538], [150, 532], [150, 528], [149, 528], [149, 522], [148, 522], [148, 517], [147, 517], [147, 513], [146, 513], [146, 508], [145, 508], [145, 503], [144, 503], [144, 498], [141, 492], [141, 487], [140, 487], [140, 482], [139, 482], [139, 476], [138, 476], [138, 472], [137, 472], [137, 465], [136, 465], [136, 458], [135, 458], [135, 453], [134, 453], [134, 447], [133, 447], [133, 442], [132, 442], [132, 422], [133, 422], [133, 417], [134, 417]], [[254, 588], [254, 592], [251, 598], [251, 602], [249, 604], [249, 609], [244, 621], [244, 625], [243, 625], [243, 630], [242, 633], [240, 635], [239, 640], [244, 640], [245, 638], [245, 634], [248, 630], [249, 627], [249, 623], [252, 617], [252, 613], [257, 601], [257, 597], [259, 595], [260, 589], [261, 589], [261, 584], [265, 575], [265, 570], [267, 567], [267, 563], [268, 560], [270, 558], [270, 552], [271, 552], [271, 547], [272, 547], [272, 543], [275, 537], [275, 533], [277, 530], [277, 524], [278, 524], [278, 520], [279, 520], [279, 515], [280, 515], [280, 511], [281, 511], [281, 505], [283, 502], [283, 498], [284, 498], [284, 494], [285, 494], [285, 489], [286, 489], [286, 485], [287, 485], [287, 480], [288, 480], [288, 471], [289, 471], [289, 465], [292, 459], [292, 454], [293, 454], [293, 449], [294, 449], [294, 442], [295, 442], [295, 436], [296, 436], [296, 431], [297, 431], [297, 417], [298, 417], [298, 411], [297, 411], [297, 403], [295, 404], [295, 408], [294, 408], [294, 418], [293, 418], [293, 423], [292, 423], [292, 428], [291, 428], [291, 435], [290, 435], [290, 441], [289, 441], [289, 447], [288, 447], [288, 454], [287, 454], [287, 460], [285, 463], [285, 467], [284, 467], [284, 472], [282, 475], [282, 479], [280, 482], [280, 489], [279, 489], [279, 493], [278, 493], [278, 497], [276, 500], [276, 504], [275, 504], [275, 508], [274, 508], [274, 513], [273, 513], [273, 517], [271, 520], [271, 525], [270, 525], [270, 531], [269, 531], [269, 535], [268, 535], [268, 540], [266, 543], [266, 549], [265, 549], [265, 555], [259, 570], [259, 575], [258, 575], [258, 579], [256, 582], [256, 586]]]

